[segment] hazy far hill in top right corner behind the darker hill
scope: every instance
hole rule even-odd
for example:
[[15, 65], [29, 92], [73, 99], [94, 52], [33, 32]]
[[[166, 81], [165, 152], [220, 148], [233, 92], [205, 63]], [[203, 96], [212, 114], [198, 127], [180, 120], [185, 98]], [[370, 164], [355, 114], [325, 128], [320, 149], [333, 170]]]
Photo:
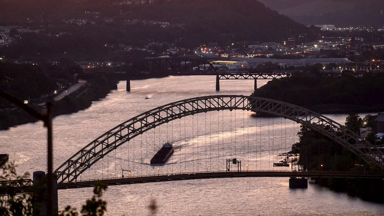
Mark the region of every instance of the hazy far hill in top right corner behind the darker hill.
[[259, 0], [305, 25], [384, 26], [383, 0]]

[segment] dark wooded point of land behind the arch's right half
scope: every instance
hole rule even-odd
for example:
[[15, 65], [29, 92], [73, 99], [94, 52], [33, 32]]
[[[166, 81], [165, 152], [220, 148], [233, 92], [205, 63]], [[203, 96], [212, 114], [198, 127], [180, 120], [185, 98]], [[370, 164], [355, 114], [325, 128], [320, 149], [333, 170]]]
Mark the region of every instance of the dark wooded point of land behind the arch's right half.
[[292, 103], [320, 114], [384, 111], [384, 75], [298, 73], [271, 80], [252, 95]]

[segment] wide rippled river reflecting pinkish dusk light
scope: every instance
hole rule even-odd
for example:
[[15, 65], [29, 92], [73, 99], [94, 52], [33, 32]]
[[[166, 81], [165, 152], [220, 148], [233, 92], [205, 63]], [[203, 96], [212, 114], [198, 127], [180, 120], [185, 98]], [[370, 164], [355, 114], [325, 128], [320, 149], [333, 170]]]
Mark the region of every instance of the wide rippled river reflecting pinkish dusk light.
[[[262, 86], [267, 81], [258, 80], [257, 84]], [[130, 93], [125, 86], [126, 82], [121, 81], [118, 90], [88, 109], [53, 120], [54, 168], [104, 132], [147, 110], [198, 96], [250, 95], [253, 80], [221, 80], [220, 92], [215, 91], [214, 76], [134, 80]], [[281, 118], [254, 118], [250, 114], [242, 110], [214, 111], [174, 120], [156, 128], [155, 133], [151, 130], [135, 138], [131, 145], [118, 148], [115, 154], [110, 153], [104, 157], [103, 164], [98, 163], [97, 169], [91, 168], [82, 178], [120, 177], [121, 169], [130, 169], [132, 175], [223, 170], [229, 158], [242, 160], [243, 169], [247, 169], [245, 164], [250, 170], [290, 169], [274, 168], [272, 164], [281, 159], [278, 153], [289, 151], [298, 140], [298, 125]], [[346, 118], [346, 115], [326, 116], [341, 124]], [[175, 153], [166, 166], [156, 170], [148, 165], [148, 160], [166, 141], [173, 143]], [[0, 146], [1, 153], [9, 154], [10, 160], [16, 162], [19, 173], [46, 170], [46, 130], [41, 122], [0, 131]], [[191, 162], [198, 158], [199, 163]], [[59, 191], [59, 209], [66, 205], [81, 209], [91, 195], [92, 188]], [[384, 204], [362, 201], [314, 184], [309, 184], [308, 189], [290, 189], [288, 178], [200, 179], [110, 186], [103, 199], [108, 201], [109, 216], [379, 216], [384, 212]], [[152, 200], [156, 202], [155, 212], [149, 208]]]

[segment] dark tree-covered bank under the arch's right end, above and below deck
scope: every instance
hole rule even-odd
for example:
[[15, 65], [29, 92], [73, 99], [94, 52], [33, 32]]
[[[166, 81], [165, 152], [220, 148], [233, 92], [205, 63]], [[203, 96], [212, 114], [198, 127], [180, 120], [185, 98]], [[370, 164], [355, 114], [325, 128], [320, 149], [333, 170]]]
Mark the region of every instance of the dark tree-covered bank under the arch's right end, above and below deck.
[[[371, 164], [362, 161], [339, 143], [327, 138], [311, 128], [301, 126], [300, 141], [292, 146], [298, 153], [300, 164], [307, 170], [332, 171], [371, 171]], [[360, 164], [356, 166], [355, 164]], [[376, 203], [384, 203], [384, 180], [382, 179], [341, 179], [313, 178], [316, 184], [336, 192], [347, 193]]]

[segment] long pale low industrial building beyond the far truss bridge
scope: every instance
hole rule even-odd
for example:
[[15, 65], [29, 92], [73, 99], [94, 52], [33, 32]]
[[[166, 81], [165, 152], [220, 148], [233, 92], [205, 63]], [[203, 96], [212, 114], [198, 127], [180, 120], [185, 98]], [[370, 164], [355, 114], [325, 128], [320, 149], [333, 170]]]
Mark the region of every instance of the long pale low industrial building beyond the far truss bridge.
[[278, 64], [282, 67], [299, 67], [306, 65], [315, 65], [317, 63], [325, 66], [331, 63], [340, 65], [348, 63], [348, 58], [309, 58], [309, 59], [274, 59], [274, 58], [231, 58], [230, 60], [211, 61], [214, 66], [227, 66], [229, 70], [239, 68], [257, 68], [263, 63]]

